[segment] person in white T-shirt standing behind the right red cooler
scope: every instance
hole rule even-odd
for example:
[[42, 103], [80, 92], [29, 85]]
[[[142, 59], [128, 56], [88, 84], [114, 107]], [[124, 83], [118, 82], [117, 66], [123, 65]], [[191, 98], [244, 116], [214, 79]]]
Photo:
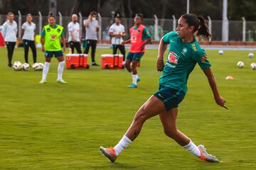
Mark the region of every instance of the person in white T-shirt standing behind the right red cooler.
[[124, 41], [123, 37], [126, 33], [119, 16], [114, 18], [114, 23], [110, 26], [109, 34], [112, 38], [111, 43], [113, 46], [113, 55], [117, 54], [117, 49], [119, 49], [121, 54], [124, 56], [123, 59], [125, 60], [125, 48], [124, 45], [122, 45], [122, 42]]

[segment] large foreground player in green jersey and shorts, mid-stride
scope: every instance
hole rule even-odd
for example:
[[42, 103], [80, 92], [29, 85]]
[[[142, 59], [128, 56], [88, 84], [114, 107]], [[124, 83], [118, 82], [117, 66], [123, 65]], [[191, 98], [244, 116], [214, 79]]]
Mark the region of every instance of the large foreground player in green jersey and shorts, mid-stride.
[[[159, 91], [156, 91], [139, 108], [139, 111], [134, 116], [132, 125], [130, 125], [122, 140], [115, 147], [100, 147], [102, 154], [110, 159], [111, 162], [114, 162], [120, 152], [135, 140], [142, 130], [144, 122], [155, 115], [159, 115], [165, 134], [173, 138], [183, 148], [202, 160], [218, 162], [217, 158], [206, 152], [203, 145], [197, 147], [191, 139], [176, 128], [178, 103], [181, 103], [186, 94], [188, 76], [193, 71], [196, 63], [199, 64], [208, 78], [215, 102], [219, 106], [227, 108], [224, 105], [225, 99], [218, 93], [213, 73], [210, 70], [210, 62], [206, 59], [206, 54], [198, 45], [194, 35], [206, 39], [210, 38], [210, 33], [203, 17], [189, 13], [178, 19], [176, 32], [171, 31], [161, 38], [157, 69], [164, 72], [159, 80]], [[169, 55], [164, 65], [164, 51], [167, 44], [170, 45]]]

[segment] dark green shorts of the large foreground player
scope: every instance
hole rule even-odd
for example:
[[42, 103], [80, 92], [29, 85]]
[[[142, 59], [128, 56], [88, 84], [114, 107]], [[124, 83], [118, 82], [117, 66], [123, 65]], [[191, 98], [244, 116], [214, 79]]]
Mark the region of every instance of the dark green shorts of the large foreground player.
[[163, 101], [166, 111], [169, 111], [171, 108], [178, 108], [178, 104], [183, 101], [185, 94], [183, 91], [160, 85], [159, 91], [156, 91], [154, 96]]

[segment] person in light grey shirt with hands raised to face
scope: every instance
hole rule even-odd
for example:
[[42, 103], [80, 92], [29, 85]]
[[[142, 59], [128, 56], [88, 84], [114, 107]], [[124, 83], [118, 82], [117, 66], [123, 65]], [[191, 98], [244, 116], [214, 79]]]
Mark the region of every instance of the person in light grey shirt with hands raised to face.
[[85, 54], [88, 54], [90, 47], [92, 47], [91, 57], [92, 66], [99, 66], [95, 62], [95, 50], [97, 46], [97, 32], [99, 31], [99, 22], [96, 20], [97, 12], [92, 11], [86, 20], [83, 21], [85, 26]]

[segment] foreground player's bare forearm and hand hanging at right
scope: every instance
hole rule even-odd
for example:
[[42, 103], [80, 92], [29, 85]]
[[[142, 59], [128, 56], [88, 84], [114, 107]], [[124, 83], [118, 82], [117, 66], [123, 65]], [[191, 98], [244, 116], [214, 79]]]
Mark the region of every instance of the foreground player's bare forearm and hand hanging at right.
[[218, 93], [216, 81], [213, 77], [213, 72], [211, 71], [210, 68], [204, 69], [203, 72], [206, 74], [206, 77], [208, 78], [208, 82], [210, 84], [210, 88], [213, 91], [213, 96], [215, 98], [215, 102], [219, 105], [222, 106], [223, 108], [228, 109], [227, 106], [225, 106], [225, 98], [221, 97], [220, 94]]

